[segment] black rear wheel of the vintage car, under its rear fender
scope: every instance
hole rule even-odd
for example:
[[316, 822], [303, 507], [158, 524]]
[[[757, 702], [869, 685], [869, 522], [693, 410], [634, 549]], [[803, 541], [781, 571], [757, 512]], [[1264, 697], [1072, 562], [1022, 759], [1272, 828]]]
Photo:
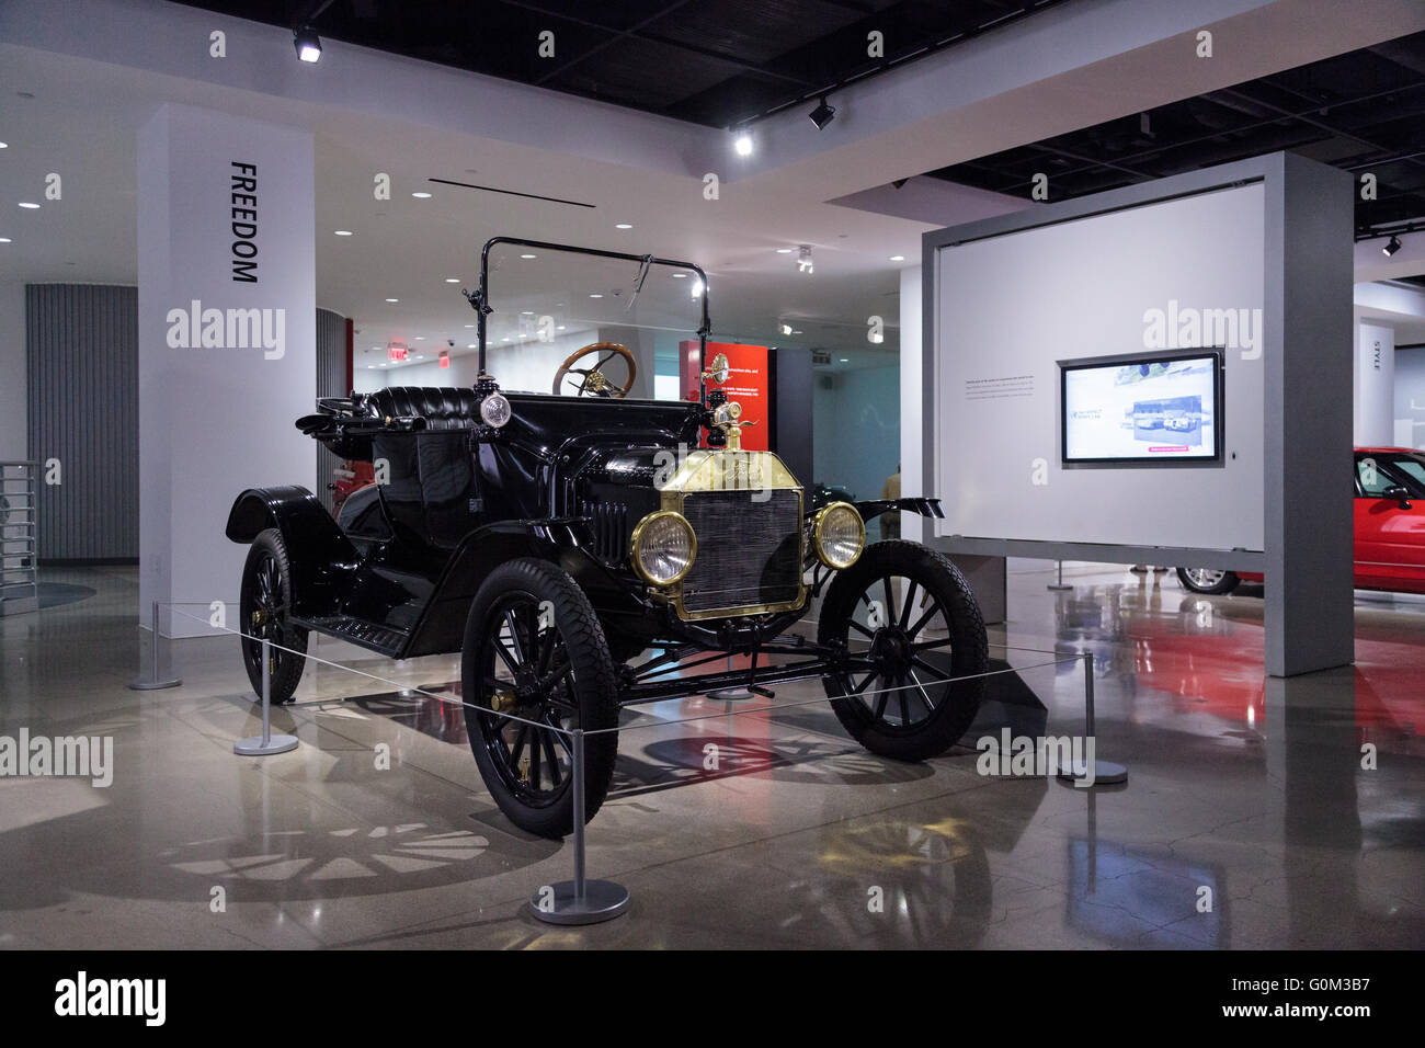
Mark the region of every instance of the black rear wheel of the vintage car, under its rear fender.
[[276, 528], [259, 532], [248, 549], [238, 606], [242, 615], [242, 664], [254, 694], [262, 700], [262, 637], [266, 637], [271, 642], [269, 699], [274, 706], [291, 702], [306, 666], [306, 630], [289, 622], [292, 565], [282, 532]]

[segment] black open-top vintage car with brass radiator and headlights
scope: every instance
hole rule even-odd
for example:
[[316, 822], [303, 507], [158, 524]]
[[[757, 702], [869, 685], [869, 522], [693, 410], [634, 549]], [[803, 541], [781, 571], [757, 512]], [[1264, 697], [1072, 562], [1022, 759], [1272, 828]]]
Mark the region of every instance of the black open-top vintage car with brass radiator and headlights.
[[[486, 374], [492, 324], [534, 309], [517, 309], [526, 298], [513, 294], [502, 321], [492, 267], [513, 278], [522, 260], [550, 258], [563, 267], [550, 299], [570, 327], [576, 301], [606, 297], [587, 287], [608, 287], [627, 311], [654, 297], [651, 281], [678, 278], [660, 287], [693, 288], [683, 298], [698, 312], [697, 342], [685, 345], [705, 354], [698, 267], [489, 241], [479, 289], [466, 292], [479, 328], [475, 386], [390, 386], [322, 399], [299, 419], [338, 456], [376, 463], [378, 483], [338, 520], [298, 486], [249, 489], [234, 503], [227, 535], [251, 543], [241, 644], [254, 689], [262, 639], [272, 642], [272, 702], [291, 699], [312, 630], [393, 659], [462, 652], [480, 774], [512, 821], [546, 837], [573, 827], [571, 747], [526, 721], [593, 731], [618, 724], [626, 706], [731, 687], [771, 696], [781, 682], [821, 677], [872, 753], [925, 760], [949, 749], [983, 690], [982, 679], [959, 677], [988, 669], [975, 596], [922, 545], [864, 548], [865, 520], [892, 509], [942, 516], [938, 500], [808, 505], [777, 455], [741, 451], [741, 426], [755, 421], [720, 388], [725, 358], [698, 356], [698, 402], [623, 398], [630, 384], [603, 368], [616, 355], [633, 361], [607, 339], [559, 368], [556, 391], [577, 382], [577, 396], [502, 392]], [[579, 258], [597, 260], [603, 275], [581, 282], [570, 268]], [[814, 632], [792, 630], [812, 613]], [[751, 656], [748, 667], [725, 669], [727, 653]], [[589, 817], [608, 790], [617, 737], [586, 739]]]

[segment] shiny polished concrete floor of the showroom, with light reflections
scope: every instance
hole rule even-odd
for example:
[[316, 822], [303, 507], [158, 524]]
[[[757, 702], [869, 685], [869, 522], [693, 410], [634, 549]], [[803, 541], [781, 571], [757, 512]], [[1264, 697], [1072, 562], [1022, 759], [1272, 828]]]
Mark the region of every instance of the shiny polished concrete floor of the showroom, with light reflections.
[[1260, 589], [1070, 565], [1056, 593], [1010, 562], [990, 639], [1057, 654], [992, 652], [1027, 690], [998, 690], [970, 736], [1082, 731], [1072, 659], [1092, 652], [1097, 756], [1126, 786], [985, 777], [968, 747], [886, 761], [795, 704], [815, 683], [772, 711], [663, 703], [621, 736], [589, 833], [590, 875], [630, 910], [566, 930], [524, 901], [571, 875], [571, 846], [504, 821], [456, 706], [393, 686], [445, 689], [455, 657], [322, 640], [392, 683], [309, 666], [274, 714], [301, 746], [244, 759], [259, 724], [234, 640], [174, 643], [182, 686], [133, 692], [137, 572], [41, 577], [94, 595], [0, 620], [0, 736], [111, 736], [115, 771], [0, 779], [0, 945], [1425, 947], [1425, 599], [1358, 593], [1357, 666], [1275, 682]]

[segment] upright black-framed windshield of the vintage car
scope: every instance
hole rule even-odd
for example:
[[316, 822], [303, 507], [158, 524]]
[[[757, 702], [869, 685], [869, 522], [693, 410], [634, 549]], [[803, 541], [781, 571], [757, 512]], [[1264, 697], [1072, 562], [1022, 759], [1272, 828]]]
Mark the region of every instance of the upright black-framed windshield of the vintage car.
[[507, 391], [647, 399], [656, 356], [698, 366], [704, 287], [688, 264], [497, 242], [486, 302], [486, 371]]

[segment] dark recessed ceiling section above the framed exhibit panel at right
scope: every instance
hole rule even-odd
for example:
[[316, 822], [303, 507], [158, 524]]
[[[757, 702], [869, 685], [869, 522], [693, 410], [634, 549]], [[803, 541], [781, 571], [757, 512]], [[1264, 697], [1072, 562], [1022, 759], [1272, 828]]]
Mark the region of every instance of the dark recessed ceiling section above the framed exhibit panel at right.
[[1357, 174], [1358, 240], [1425, 228], [1425, 33], [929, 174], [1027, 198], [1045, 173], [1064, 200], [1277, 150]]

